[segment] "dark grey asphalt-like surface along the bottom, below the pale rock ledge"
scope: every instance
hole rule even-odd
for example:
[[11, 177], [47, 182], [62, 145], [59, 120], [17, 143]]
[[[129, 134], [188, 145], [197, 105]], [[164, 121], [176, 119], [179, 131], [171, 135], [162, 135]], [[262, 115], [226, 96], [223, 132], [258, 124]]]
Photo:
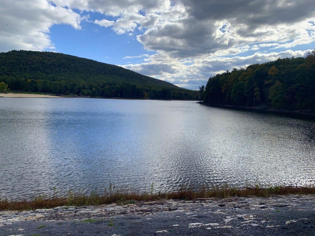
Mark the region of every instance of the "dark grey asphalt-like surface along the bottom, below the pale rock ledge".
[[[315, 207], [275, 207], [273, 211], [192, 207], [191, 212], [157, 212], [104, 219], [24, 221], [0, 227], [0, 236], [70, 235], [315, 235]], [[305, 207], [307, 210], [305, 210]], [[226, 228], [216, 228], [226, 227]], [[227, 228], [229, 227], [229, 228]]]

